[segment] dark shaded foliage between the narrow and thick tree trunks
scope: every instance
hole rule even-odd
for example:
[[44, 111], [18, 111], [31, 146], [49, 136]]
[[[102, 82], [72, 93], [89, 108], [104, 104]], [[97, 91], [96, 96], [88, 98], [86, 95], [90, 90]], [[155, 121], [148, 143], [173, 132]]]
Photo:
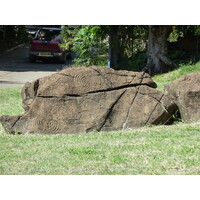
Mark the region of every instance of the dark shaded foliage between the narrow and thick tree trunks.
[[[146, 65], [148, 26], [121, 25], [118, 28], [118, 69], [139, 71]], [[140, 65], [140, 66], [139, 66]]]

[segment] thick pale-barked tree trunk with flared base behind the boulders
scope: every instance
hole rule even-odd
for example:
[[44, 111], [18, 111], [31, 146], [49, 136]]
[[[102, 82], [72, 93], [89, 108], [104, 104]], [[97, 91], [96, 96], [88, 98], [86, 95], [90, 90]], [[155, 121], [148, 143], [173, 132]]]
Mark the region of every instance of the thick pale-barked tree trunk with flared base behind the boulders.
[[163, 73], [174, 67], [173, 62], [167, 57], [167, 38], [171, 31], [172, 26], [149, 26], [146, 69], [150, 75]]

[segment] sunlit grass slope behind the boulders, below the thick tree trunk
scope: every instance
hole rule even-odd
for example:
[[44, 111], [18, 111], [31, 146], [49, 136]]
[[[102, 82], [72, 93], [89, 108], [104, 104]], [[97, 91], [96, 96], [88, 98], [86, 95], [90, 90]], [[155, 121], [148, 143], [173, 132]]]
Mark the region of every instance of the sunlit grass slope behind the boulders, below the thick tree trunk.
[[197, 71], [200, 71], [200, 62], [197, 62], [196, 64], [180, 65], [177, 69], [171, 72], [155, 75], [152, 78], [157, 83], [157, 89], [163, 91], [165, 84], [171, 83], [183, 75]]

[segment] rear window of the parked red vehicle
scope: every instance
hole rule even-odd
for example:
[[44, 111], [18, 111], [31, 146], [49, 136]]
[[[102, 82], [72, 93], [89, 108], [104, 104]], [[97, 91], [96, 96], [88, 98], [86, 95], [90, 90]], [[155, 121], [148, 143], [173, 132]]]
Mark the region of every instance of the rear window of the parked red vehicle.
[[45, 40], [45, 41], [60, 41], [61, 40], [61, 30], [54, 29], [41, 29], [36, 35], [36, 40]]

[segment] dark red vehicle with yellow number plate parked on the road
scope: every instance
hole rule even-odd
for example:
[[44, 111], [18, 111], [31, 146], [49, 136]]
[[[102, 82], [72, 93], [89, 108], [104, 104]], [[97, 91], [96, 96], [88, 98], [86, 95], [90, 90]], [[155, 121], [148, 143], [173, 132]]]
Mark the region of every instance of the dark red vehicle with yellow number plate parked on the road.
[[61, 28], [41, 28], [37, 31], [35, 38], [31, 41], [29, 47], [29, 60], [35, 62], [41, 59], [57, 59], [60, 62], [66, 62], [66, 56], [69, 55], [59, 46], [62, 35]]

